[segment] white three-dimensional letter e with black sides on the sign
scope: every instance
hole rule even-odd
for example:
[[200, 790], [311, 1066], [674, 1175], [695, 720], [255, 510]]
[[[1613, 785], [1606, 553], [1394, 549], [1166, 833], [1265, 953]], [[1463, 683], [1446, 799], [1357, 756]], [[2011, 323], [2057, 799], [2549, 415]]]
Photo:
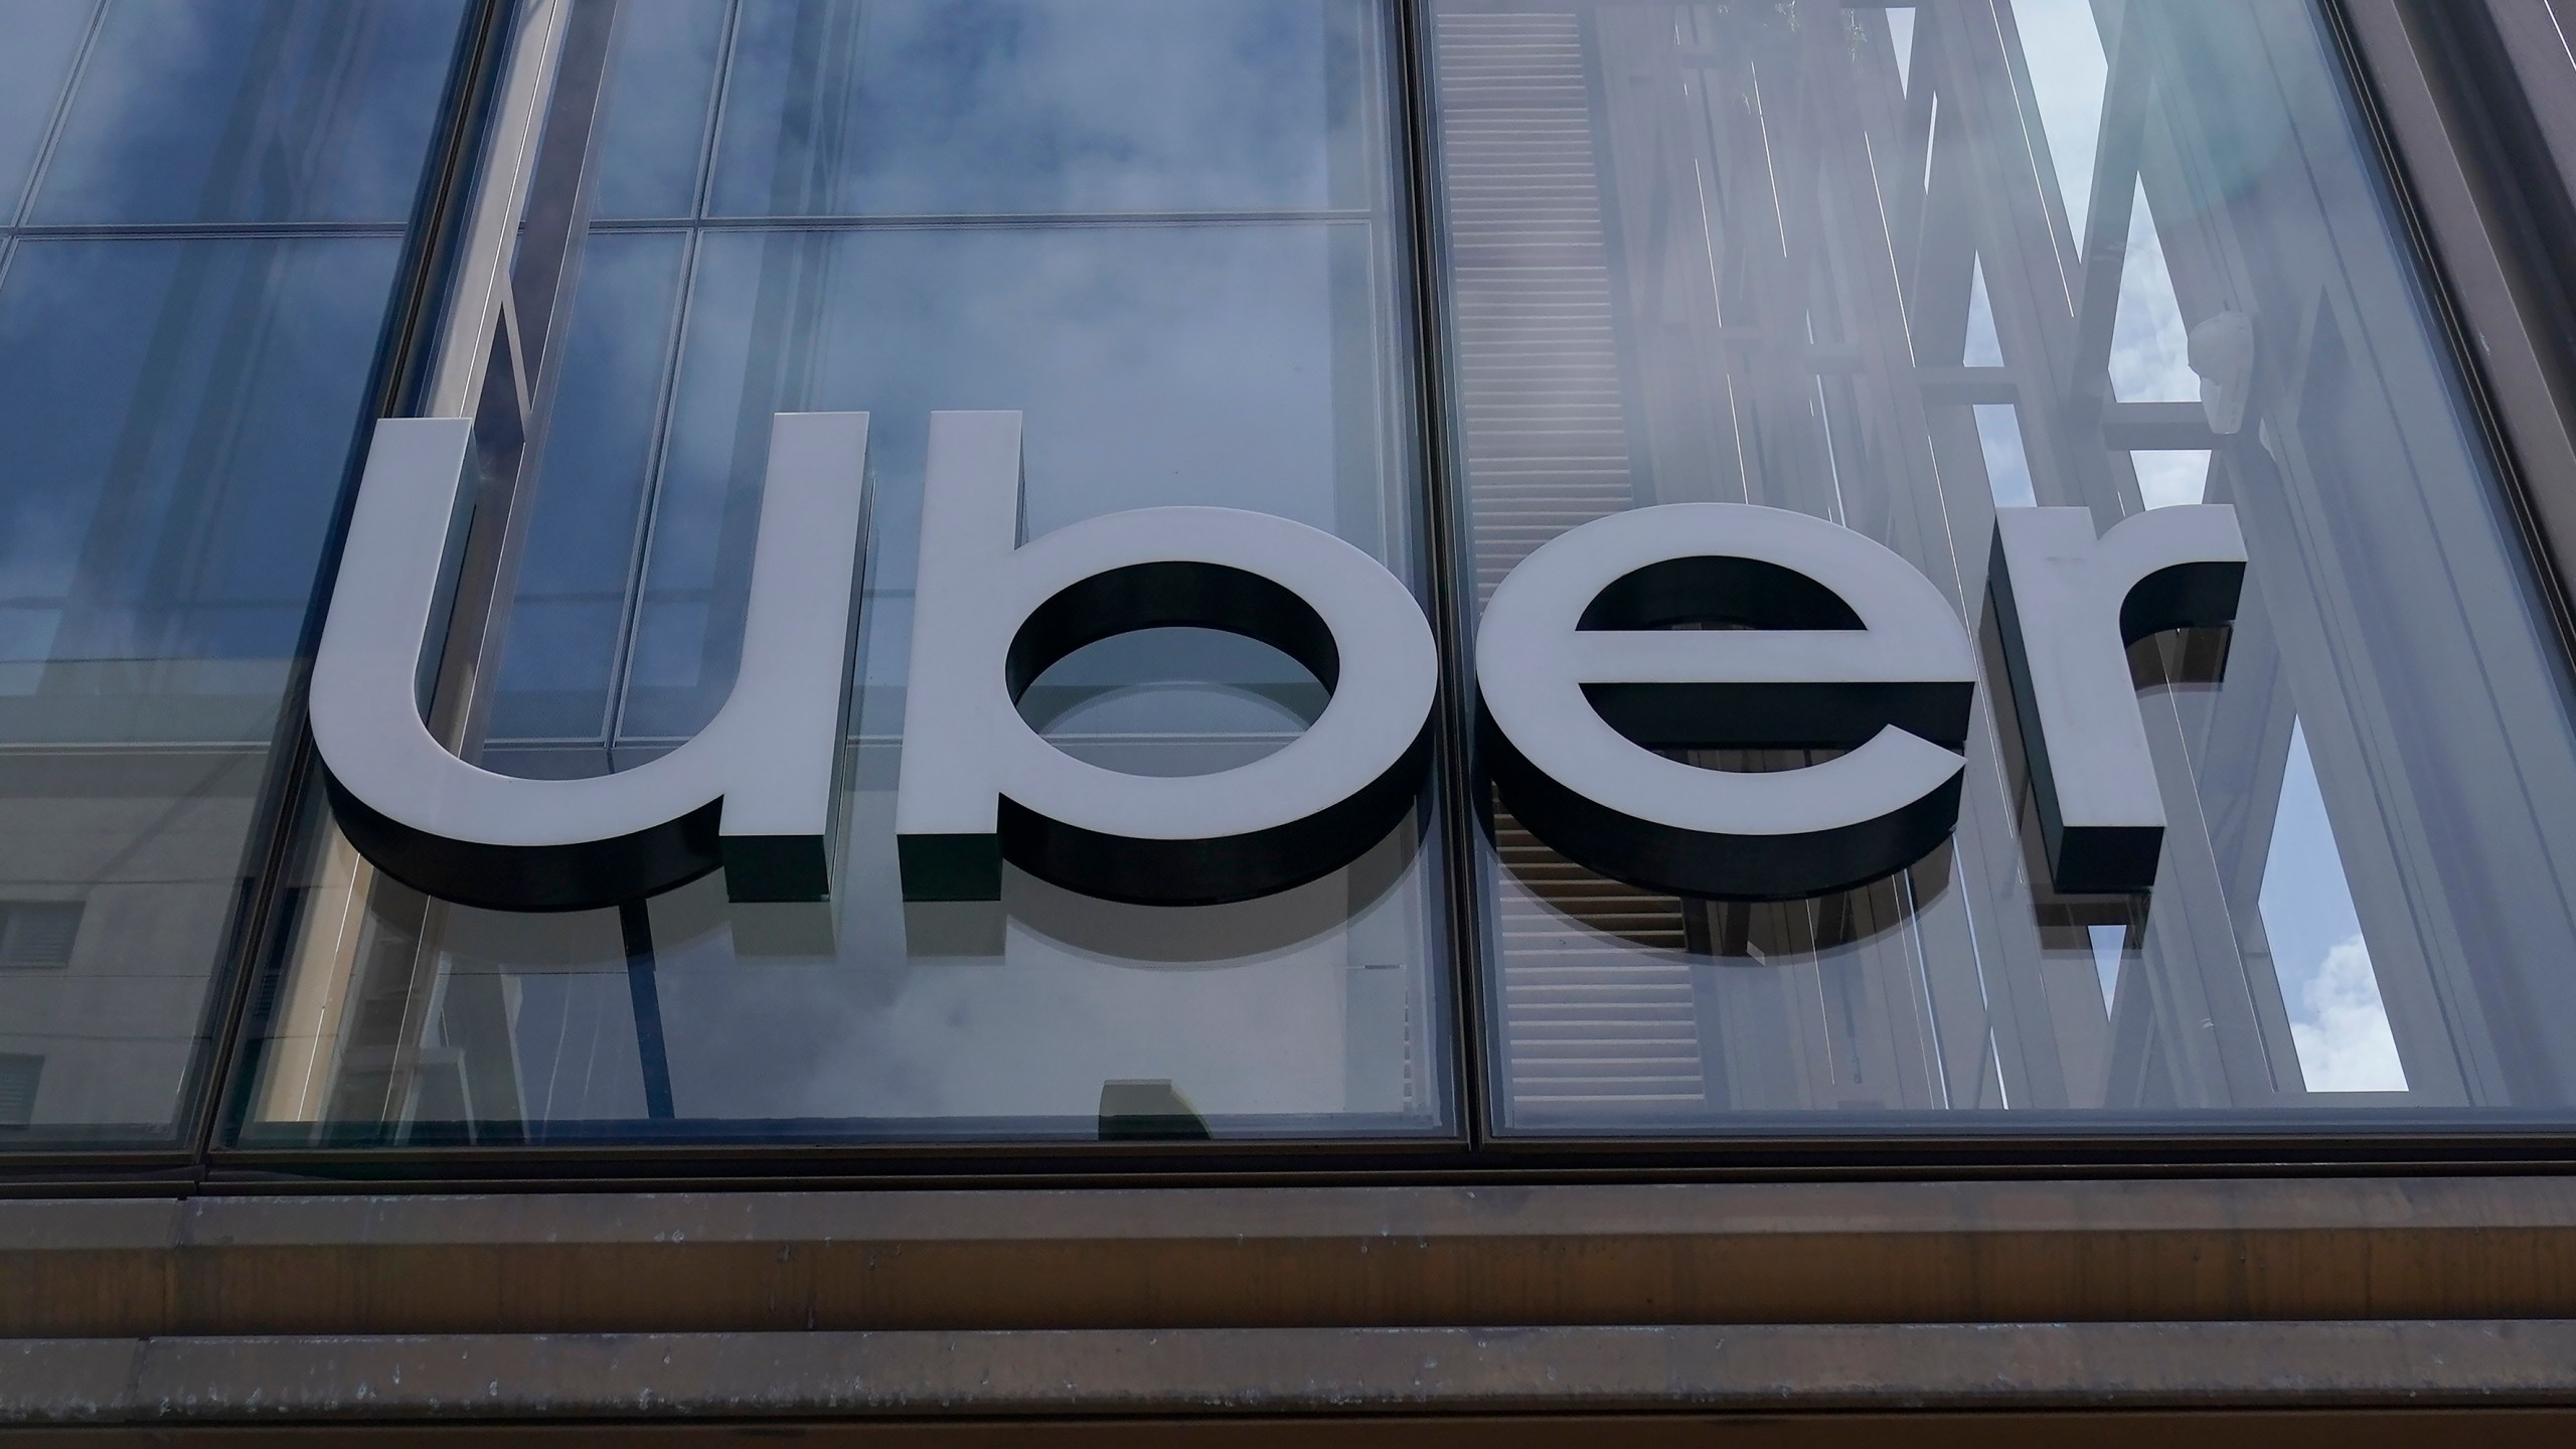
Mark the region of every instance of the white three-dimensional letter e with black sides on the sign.
[[[1672, 503], [1551, 539], [1486, 603], [1476, 686], [1520, 822], [1651, 890], [1824, 895], [1958, 822], [1968, 634], [1901, 557], [1806, 513]], [[1649, 745], [1850, 753], [1734, 773]]]

